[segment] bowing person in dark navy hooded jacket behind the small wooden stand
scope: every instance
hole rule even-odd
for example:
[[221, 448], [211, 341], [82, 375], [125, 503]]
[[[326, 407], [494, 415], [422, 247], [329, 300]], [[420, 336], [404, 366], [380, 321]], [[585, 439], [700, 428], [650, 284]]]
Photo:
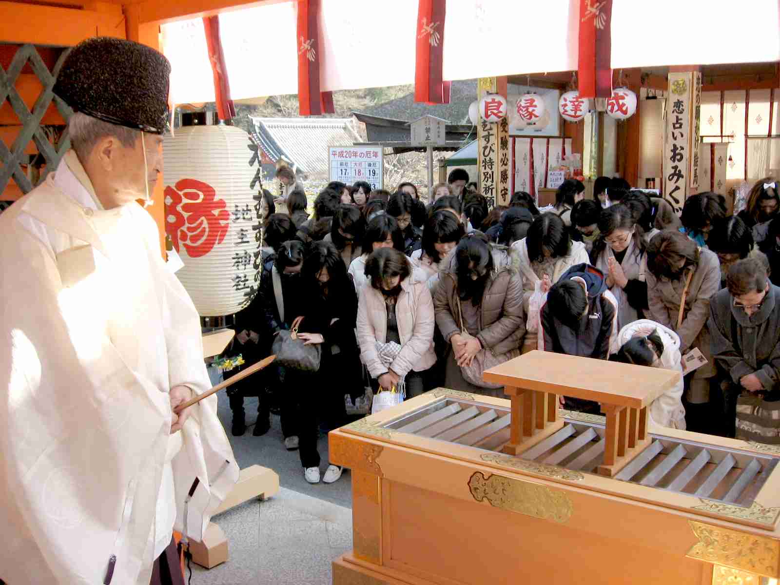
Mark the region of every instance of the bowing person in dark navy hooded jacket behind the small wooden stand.
[[[590, 264], [575, 264], [551, 287], [541, 307], [544, 351], [607, 360], [617, 319], [618, 303], [604, 273]], [[599, 413], [597, 402], [565, 397], [564, 403], [569, 410]]]

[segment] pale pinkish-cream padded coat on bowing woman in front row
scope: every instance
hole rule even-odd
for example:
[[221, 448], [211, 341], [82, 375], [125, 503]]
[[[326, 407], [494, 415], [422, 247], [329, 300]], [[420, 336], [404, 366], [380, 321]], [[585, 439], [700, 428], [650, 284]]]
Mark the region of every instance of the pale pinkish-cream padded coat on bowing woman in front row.
[[[434, 303], [426, 282], [413, 282], [407, 277], [401, 283], [402, 292], [395, 305], [395, 318], [401, 338], [401, 352], [391, 364], [399, 376], [410, 371], [421, 372], [436, 363], [434, 353]], [[387, 340], [388, 313], [385, 297], [370, 283], [360, 289], [357, 304], [357, 339], [360, 358], [368, 367], [371, 378], [387, 371], [377, 355], [376, 342]]]

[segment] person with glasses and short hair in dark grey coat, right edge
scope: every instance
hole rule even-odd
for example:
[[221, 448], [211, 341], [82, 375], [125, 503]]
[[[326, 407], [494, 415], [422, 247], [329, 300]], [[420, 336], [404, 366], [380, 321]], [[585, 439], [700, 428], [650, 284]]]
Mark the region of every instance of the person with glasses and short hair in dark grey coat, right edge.
[[712, 297], [708, 323], [724, 378], [725, 434], [780, 444], [780, 288], [758, 258], [733, 264], [726, 285]]

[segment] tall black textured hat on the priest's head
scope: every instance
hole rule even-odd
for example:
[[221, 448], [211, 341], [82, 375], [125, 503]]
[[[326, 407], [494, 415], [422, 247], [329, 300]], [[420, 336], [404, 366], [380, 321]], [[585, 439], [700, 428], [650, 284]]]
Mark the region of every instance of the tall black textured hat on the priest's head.
[[70, 51], [54, 92], [76, 112], [161, 134], [168, 121], [171, 64], [144, 44], [94, 37]]

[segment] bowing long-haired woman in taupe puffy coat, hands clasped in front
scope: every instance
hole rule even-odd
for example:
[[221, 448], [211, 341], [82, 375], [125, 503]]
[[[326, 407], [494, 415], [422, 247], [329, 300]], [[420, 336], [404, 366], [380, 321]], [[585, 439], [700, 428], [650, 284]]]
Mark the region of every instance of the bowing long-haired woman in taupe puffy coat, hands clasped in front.
[[506, 248], [490, 243], [484, 234], [461, 239], [434, 291], [434, 309], [438, 329], [449, 345], [445, 386], [490, 393], [467, 381], [460, 368], [482, 349], [502, 361], [519, 356], [525, 333], [523, 285]]

